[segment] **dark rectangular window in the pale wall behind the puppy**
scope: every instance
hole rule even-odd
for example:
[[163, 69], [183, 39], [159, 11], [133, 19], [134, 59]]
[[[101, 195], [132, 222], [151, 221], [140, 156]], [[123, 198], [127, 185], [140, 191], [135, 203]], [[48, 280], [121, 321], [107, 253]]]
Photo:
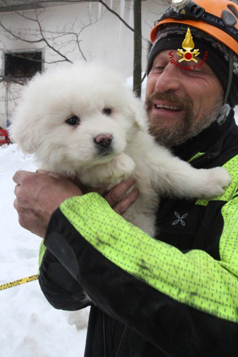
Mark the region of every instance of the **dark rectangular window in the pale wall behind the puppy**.
[[11, 78], [32, 77], [42, 70], [41, 52], [5, 53], [4, 63], [4, 75]]

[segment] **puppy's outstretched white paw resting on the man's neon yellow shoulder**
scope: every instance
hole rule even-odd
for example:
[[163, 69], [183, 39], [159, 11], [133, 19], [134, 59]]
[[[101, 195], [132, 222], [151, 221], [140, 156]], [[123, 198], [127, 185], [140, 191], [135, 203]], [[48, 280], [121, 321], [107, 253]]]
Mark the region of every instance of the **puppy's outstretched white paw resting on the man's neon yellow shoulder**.
[[229, 186], [232, 181], [228, 172], [223, 167], [214, 167], [208, 169], [205, 184], [202, 189], [200, 197], [211, 198], [220, 196], [224, 192], [224, 187]]

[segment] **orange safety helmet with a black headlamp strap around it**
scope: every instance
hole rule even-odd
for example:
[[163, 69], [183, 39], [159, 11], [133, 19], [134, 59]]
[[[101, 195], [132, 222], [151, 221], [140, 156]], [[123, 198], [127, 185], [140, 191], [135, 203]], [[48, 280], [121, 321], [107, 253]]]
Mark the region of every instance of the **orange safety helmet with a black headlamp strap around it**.
[[150, 33], [156, 39], [162, 24], [178, 22], [197, 27], [238, 54], [238, 5], [228, 0], [172, 0]]

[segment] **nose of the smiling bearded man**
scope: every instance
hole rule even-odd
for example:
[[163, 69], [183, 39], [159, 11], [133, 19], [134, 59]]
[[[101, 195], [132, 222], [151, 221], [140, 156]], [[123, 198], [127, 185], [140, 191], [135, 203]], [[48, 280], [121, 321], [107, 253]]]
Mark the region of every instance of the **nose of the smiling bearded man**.
[[180, 69], [172, 64], [167, 65], [163, 72], [158, 76], [155, 83], [155, 90], [165, 92], [167, 90], [179, 90], [181, 87]]

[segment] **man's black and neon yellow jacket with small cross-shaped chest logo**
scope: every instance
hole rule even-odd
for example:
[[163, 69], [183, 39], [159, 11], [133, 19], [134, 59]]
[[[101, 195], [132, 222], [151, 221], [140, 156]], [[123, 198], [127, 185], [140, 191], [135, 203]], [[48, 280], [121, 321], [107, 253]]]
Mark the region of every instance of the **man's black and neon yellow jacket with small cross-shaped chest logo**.
[[[85, 357], [238, 356], [238, 128], [232, 115], [173, 151], [224, 166], [223, 196], [163, 198], [150, 238], [95, 193], [63, 202], [39, 282], [58, 309], [91, 306]], [[200, 154], [198, 154], [200, 153]], [[159, 240], [158, 240], [159, 239]]]

